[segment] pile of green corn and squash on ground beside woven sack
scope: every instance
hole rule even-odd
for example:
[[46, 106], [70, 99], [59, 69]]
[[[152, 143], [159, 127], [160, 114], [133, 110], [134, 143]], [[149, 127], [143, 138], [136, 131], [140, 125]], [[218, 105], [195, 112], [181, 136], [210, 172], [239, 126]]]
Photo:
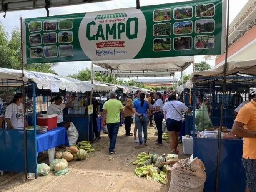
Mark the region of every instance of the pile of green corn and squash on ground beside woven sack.
[[137, 165], [134, 172], [138, 177], [147, 177], [150, 180], [156, 180], [166, 185], [166, 168], [169, 159], [178, 159], [173, 154], [150, 154], [142, 152], [138, 154], [137, 161], [133, 162]]

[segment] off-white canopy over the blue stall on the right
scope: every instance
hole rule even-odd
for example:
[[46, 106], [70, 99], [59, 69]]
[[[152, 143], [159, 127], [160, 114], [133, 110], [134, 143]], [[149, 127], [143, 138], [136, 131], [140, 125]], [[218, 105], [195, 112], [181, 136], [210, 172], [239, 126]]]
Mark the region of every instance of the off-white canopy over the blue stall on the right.
[[[204, 76], [204, 77], [211, 77], [211, 76], [224, 76], [224, 63], [215, 66], [212, 69], [205, 70], [205, 71], [196, 71], [190, 75], [190, 80], [187, 81], [185, 84], [179, 86], [179, 90], [182, 91], [185, 88], [191, 89], [193, 87], [193, 81], [195, 76]], [[256, 59], [254, 60], [247, 60], [247, 61], [229, 61], [227, 63], [227, 75], [236, 74], [241, 76], [256, 76]], [[221, 81], [221, 79], [218, 79]], [[241, 80], [242, 81], [242, 80]], [[246, 79], [244, 79], [246, 81]], [[209, 82], [209, 81], [208, 81]], [[230, 79], [227, 80], [227, 83], [232, 82]], [[196, 80], [196, 83], [203, 83], [203, 80]]]

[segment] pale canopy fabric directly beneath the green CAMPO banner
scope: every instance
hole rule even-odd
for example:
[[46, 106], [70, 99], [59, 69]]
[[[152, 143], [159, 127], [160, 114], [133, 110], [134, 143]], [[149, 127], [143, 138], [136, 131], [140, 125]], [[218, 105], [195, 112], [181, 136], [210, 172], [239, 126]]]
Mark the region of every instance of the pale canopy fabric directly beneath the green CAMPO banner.
[[146, 58], [133, 60], [108, 60], [93, 61], [109, 70], [120, 71], [154, 71], [154, 72], [174, 72], [185, 70], [194, 61], [194, 56], [166, 57], [166, 58]]

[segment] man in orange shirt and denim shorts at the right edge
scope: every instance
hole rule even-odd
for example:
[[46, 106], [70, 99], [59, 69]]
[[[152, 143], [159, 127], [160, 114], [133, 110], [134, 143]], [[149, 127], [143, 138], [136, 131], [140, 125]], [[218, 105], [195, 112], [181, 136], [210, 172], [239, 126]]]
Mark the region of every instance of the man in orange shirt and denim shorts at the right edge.
[[[255, 90], [256, 91], [256, 90]], [[251, 99], [239, 111], [232, 133], [244, 138], [243, 166], [246, 173], [246, 192], [256, 192], [256, 99]]]

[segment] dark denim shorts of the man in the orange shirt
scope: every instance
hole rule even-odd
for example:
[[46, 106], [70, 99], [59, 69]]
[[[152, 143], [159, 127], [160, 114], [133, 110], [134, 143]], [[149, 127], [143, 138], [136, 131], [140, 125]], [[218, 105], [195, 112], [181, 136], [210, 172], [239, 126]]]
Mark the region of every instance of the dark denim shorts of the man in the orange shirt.
[[246, 175], [246, 188], [250, 192], [256, 192], [256, 159], [242, 158]]

